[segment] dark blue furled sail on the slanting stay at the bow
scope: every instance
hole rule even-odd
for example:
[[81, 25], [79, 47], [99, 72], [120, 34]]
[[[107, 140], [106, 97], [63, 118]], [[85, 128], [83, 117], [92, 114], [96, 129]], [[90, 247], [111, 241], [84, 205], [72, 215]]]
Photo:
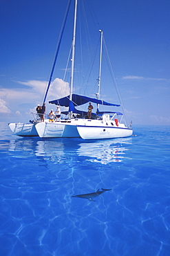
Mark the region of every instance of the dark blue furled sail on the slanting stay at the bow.
[[67, 4], [67, 9], [66, 9], [66, 12], [65, 12], [65, 17], [64, 17], [64, 20], [63, 20], [63, 24], [62, 24], [62, 27], [61, 27], [61, 33], [59, 35], [59, 41], [58, 41], [58, 44], [57, 44], [57, 50], [56, 50], [56, 56], [54, 58], [54, 64], [52, 66], [52, 72], [50, 74], [50, 80], [47, 84], [47, 90], [45, 92], [45, 97], [44, 97], [44, 100], [43, 102], [45, 102], [46, 98], [47, 98], [47, 93], [50, 89], [50, 84], [52, 82], [52, 75], [54, 73], [54, 68], [55, 68], [55, 65], [56, 65], [56, 59], [58, 57], [58, 54], [59, 54], [59, 49], [60, 49], [60, 46], [61, 46], [61, 39], [63, 37], [63, 32], [64, 32], [64, 28], [65, 28], [65, 23], [66, 23], [66, 20], [67, 20], [67, 16], [68, 16], [68, 12], [69, 12], [69, 9], [70, 9], [70, 3], [71, 3], [72, 0], [69, 0], [68, 4]]

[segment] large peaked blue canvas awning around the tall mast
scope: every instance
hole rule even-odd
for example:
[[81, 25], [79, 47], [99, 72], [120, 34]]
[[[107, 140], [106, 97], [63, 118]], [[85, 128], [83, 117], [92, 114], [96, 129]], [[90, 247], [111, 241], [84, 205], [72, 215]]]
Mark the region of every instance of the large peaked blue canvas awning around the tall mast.
[[[72, 104], [75, 106], [83, 105], [87, 102], [93, 102], [96, 104], [106, 105], [106, 106], [114, 106], [114, 107], [120, 107], [120, 104], [113, 104], [109, 102], [105, 102], [104, 100], [98, 100], [96, 98], [89, 98], [83, 95], [78, 94], [72, 94]], [[60, 105], [63, 107], [70, 107], [70, 96], [66, 96], [64, 98], [60, 98], [58, 100], [51, 100], [49, 103]]]

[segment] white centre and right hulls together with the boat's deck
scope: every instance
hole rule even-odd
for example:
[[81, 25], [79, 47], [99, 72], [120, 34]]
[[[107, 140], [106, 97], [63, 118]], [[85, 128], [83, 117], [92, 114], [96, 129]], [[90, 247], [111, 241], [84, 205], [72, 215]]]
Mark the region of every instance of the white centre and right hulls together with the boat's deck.
[[72, 119], [61, 122], [39, 122], [36, 131], [41, 138], [78, 138], [85, 140], [125, 138], [132, 135], [132, 129], [114, 120]]

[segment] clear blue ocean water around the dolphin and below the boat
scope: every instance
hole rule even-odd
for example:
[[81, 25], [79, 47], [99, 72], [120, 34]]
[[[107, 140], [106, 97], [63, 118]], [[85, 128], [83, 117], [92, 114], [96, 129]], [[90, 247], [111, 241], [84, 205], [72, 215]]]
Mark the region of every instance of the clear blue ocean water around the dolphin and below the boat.
[[170, 255], [170, 127], [96, 141], [0, 129], [0, 255]]

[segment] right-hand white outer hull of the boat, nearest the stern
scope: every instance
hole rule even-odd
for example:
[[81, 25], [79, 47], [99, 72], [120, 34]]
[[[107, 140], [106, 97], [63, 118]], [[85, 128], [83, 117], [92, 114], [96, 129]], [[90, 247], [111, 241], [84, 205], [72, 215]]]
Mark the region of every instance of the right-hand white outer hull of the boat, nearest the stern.
[[96, 140], [105, 138], [125, 138], [130, 137], [133, 133], [132, 129], [121, 127], [92, 127], [78, 126], [78, 134], [84, 140]]

